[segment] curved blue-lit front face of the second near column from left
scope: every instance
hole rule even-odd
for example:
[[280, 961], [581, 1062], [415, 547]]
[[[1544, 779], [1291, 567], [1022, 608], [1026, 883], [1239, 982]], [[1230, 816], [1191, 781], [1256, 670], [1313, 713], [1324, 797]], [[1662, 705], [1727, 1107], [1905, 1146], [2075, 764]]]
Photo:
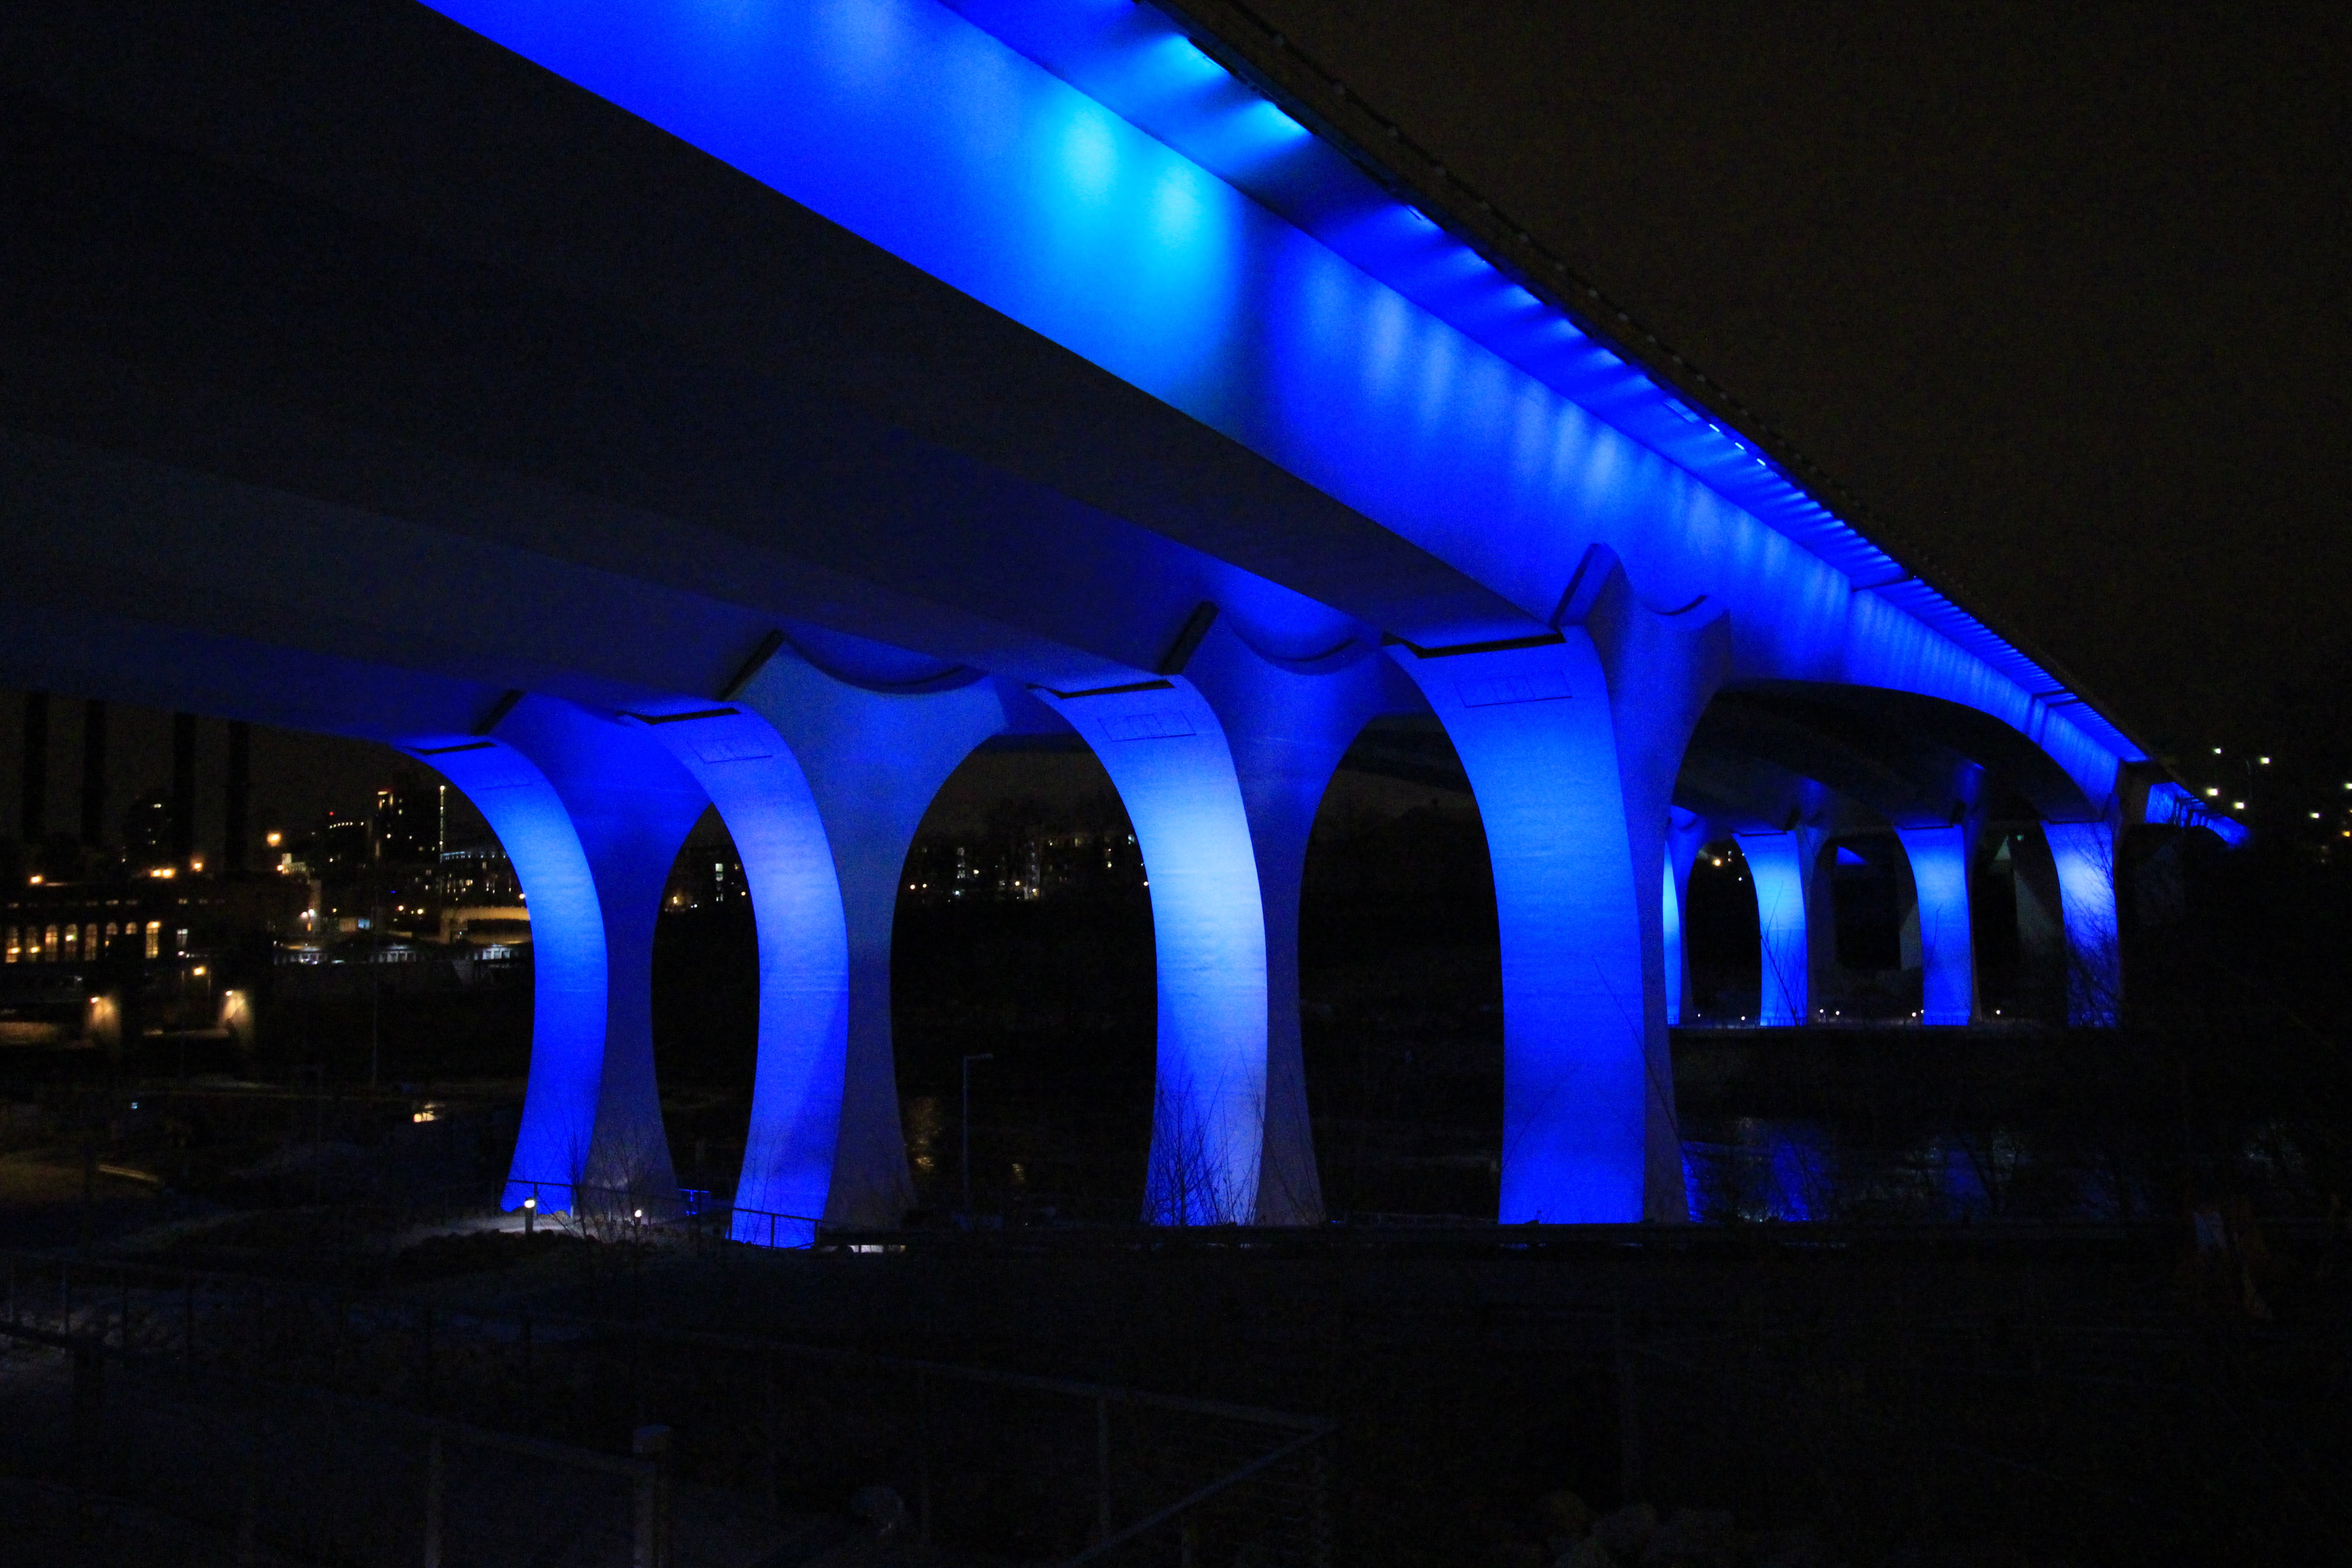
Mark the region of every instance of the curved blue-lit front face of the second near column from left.
[[[849, 922], [809, 780], [743, 705], [647, 724], [727, 820], [760, 945], [760, 1046], [734, 1239], [809, 1246], [833, 1197], [849, 1060]], [[783, 1215], [783, 1218], [774, 1218]]]

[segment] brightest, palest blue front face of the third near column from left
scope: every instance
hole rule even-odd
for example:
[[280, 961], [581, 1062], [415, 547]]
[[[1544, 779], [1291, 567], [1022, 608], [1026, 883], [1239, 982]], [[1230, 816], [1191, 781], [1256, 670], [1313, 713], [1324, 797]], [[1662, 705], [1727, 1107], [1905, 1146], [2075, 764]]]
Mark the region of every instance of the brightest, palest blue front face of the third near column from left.
[[1268, 943], [1225, 726], [1181, 675], [1145, 691], [1037, 696], [1101, 757], [1150, 882], [1160, 1051], [1143, 1218], [1247, 1225], [1265, 1145]]

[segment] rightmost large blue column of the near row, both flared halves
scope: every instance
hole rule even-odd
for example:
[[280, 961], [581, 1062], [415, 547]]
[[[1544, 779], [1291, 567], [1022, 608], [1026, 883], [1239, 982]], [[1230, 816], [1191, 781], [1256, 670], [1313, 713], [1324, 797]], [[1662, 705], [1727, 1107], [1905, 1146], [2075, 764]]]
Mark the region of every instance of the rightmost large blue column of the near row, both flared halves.
[[1392, 649], [1470, 773], [1503, 938], [1503, 1222], [1684, 1220], [1665, 825], [1729, 637], [1592, 550], [1559, 637]]

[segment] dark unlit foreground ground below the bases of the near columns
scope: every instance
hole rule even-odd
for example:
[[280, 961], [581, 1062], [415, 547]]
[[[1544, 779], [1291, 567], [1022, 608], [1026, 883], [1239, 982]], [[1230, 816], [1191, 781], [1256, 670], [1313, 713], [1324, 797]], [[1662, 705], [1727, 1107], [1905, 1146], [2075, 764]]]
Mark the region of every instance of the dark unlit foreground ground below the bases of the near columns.
[[[666, 1422], [680, 1486], [703, 1488], [706, 1512], [764, 1521], [727, 1540], [767, 1542], [677, 1561], [746, 1568], [844, 1549], [1068, 1561], [1098, 1497], [1124, 1526], [1291, 1432], [1308, 1446], [1261, 1476], [1247, 1509], [1115, 1561], [2281, 1563], [2328, 1561], [2352, 1523], [2352, 1253], [2324, 1222], [2241, 1225], [2206, 1253], [2164, 1225], [1310, 1232], [1247, 1246], [1235, 1232], [1103, 1229], [769, 1253], [546, 1229], [402, 1239], [362, 1218], [191, 1225], [108, 1248], [113, 1265], [19, 1253], [9, 1312], [141, 1352], [113, 1373], [111, 1408], [212, 1413], [176, 1436], [141, 1427], [153, 1453], [139, 1474], [191, 1453], [285, 1450], [266, 1469], [325, 1497], [358, 1483], [306, 1479], [327, 1443], [287, 1436], [294, 1418], [270, 1401], [296, 1396], [263, 1385], [362, 1401], [365, 1420], [303, 1420], [362, 1443], [339, 1474], [374, 1465], [381, 1488], [350, 1495], [390, 1495], [369, 1507], [395, 1523], [423, 1486], [421, 1439], [386, 1410], [602, 1453]], [[33, 1474], [38, 1434], [66, 1425], [71, 1396], [54, 1356], [40, 1375], [31, 1349], [12, 1366], [9, 1453]], [[1136, 1389], [1221, 1403], [1150, 1406], [1124, 1394]], [[1279, 1413], [1336, 1429], [1315, 1439]], [[477, 1490], [496, 1469], [454, 1465]], [[223, 1474], [214, 1493], [235, 1493], [252, 1462]], [[80, 1472], [108, 1476], [127, 1486], [120, 1455]], [[931, 1544], [917, 1549], [915, 1523], [906, 1544], [877, 1544], [851, 1512], [873, 1486], [920, 1514]], [[492, 1493], [567, 1495], [529, 1474]], [[1585, 1512], [1623, 1505], [1696, 1512], [1646, 1544], [1628, 1530], [1639, 1514], [1604, 1526], [1613, 1552], [1578, 1540]], [[212, 1516], [233, 1540], [223, 1507]], [[612, 1495], [557, 1512], [597, 1507], [619, 1552]], [[381, 1561], [416, 1561], [395, 1523], [381, 1540], [407, 1544]], [[449, 1561], [600, 1561], [581, 1556], [581, 1530], [569, 1556], [489, 1556], [492, 1535], [482, 1556]]]

